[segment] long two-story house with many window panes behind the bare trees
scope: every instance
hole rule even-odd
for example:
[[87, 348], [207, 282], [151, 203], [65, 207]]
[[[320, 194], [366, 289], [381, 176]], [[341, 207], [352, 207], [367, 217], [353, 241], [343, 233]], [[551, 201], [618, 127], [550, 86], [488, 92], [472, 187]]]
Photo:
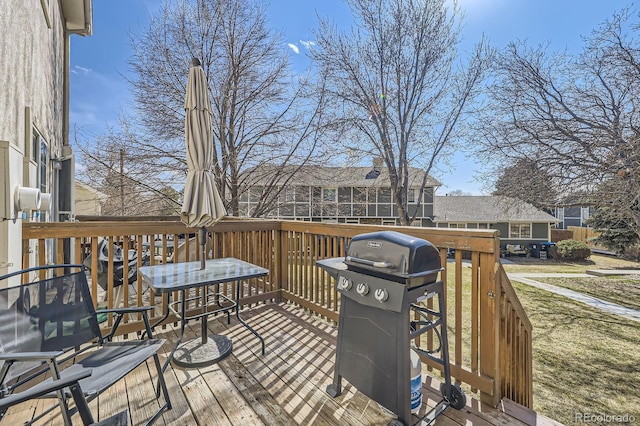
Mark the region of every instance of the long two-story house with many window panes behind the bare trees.
[[[240, 196], [240, 216], [248, 216], [263, 196], [264, 188], [277, 169], [253, 171], [245, 176], [245, 190]], [[370, 167], [288, 167], [283, 175], [296, 170], [295, 177], [280, 192], [267, 217], [334, 223], [397, 225], [398, 211], [392, 199], [389, 176], [382, 164]], [[260, 175], [258, 173], [260, 172]], [[411, 169], [408, 191], [409, 213], [417, 212], [416, 226], [433, 226], [433, 197], [440, 183], [429, 178], [418, 206], [420, 183], [424, 171]], [[286, 181], [286, 179], [282, 179]]]

